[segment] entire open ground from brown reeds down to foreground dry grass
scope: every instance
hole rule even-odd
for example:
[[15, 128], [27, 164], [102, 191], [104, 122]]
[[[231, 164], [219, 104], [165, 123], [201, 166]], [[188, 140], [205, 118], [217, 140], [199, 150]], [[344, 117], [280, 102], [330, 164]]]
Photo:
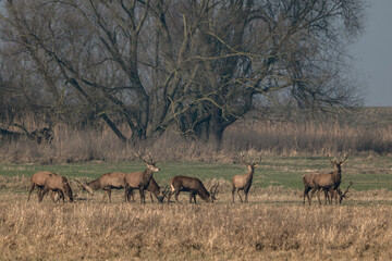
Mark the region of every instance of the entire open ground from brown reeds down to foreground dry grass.
[[[0, 260], [392, 260], [392, 108], [368, 108], [335, 119], [240, 120], [220, 145], [168, 132], [124, 145], [108, 129], [53, 126], [53, 140], [0, 139]], [[23, 122], [29, 130], [39, 119]], [[17, 130], [17, 129], [14, 129]], [[130, 134], [127, 134], [130, 135]], [[123, 190], [83, 191], [75, 179], [107, 172], [143, 171], [136, 150], [158, 159], [154, 176], [163, 188], [175, 175], [219, 183], [218, 200], [188, 203], [123, 202]], [[249, 202], [232, 202], [231, 178], [244, 174], [240, 152], [262, 161]], [[327, 154], [342, 157], [342, 204], [303, 206], [302, 176], [330, 172]], [[36, 195], [29, 176], [56, 172], [71, 182], [73, 203]], [[136, 194], [137, 195], [137, 194]], [[173, 198], [172, 198], [173, 199]]]

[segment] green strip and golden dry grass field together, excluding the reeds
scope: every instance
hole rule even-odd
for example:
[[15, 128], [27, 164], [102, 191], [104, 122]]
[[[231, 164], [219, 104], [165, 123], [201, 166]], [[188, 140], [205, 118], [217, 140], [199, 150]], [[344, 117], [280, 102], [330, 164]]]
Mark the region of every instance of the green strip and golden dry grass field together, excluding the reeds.
[[[28, 177], [49, 170], [91, 179], [143, 164], [0, 165], [0, 260], [391, 260], [391, 159], [351, 158], [343, 178], [353, 181], [341, 206], [302, 206], [301, 176], [330, 171], [326, 158], [266, 158], [255, 173], [249, 203], [231, 202], [230, 177], [241, 164], [159, 163], [161, 185], [177, 174], [221, 183], [213, 204], [140, 206], [88, 196], [72, 184], [74, 203], [26, 202]], [[184, 171], [186, 170], [186, 171]], [[346, 183], [346, 182], [344, 182]], [[343, 186], [343, 185], [342, 185]], [[237, 199], [236, 199], [237, 200]]]

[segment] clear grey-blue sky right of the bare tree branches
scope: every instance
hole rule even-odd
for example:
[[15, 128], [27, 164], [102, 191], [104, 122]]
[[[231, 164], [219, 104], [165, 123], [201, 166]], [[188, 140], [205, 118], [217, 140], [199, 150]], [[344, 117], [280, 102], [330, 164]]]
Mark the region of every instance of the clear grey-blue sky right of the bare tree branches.
[[367, 78], [365, 105], [392, 107], [392, 0], [370, 0], [364, 35], [353, 46], [355, 66]]

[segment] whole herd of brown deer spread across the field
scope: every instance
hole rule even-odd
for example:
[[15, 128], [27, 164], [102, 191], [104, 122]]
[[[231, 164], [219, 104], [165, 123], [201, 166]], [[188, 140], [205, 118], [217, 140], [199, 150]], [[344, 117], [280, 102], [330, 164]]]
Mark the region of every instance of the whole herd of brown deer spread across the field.
[[[179, 195], [181, 191], [189, 192], [189, 203], [192, 200], [196, 203], [196, 195], [198, 195], [206, 202], [213, 202], [217, 198], [217, 192], [219, 188], [219, 183], [213, 184], [209, 190], [206, 189], [203, 182], [197, 177], [189, 177], [184, 175], [177, 175], [170, 179], [170, 188], [164, 188], [161, 190], [161, 187], [154, 179], [154, 173], [159, 172], [159, 167], [156, 166], [157, 161], [154, 161], [151, 156], [148, 154], [146, 160], [140, 156], [140, 153], [135, 153], [135, 156], [146, 163], [146, 170], [144, 172], [133, 172], [133, 173], [123, 173], [123, 172], [111, 172], [101, 175], [100, 177], [82, 183], [79, 181], [74, 181], [78, 186], [87, 191], [89, 195], [94, 195], [94, 190], [103, 190], [102, 202], [108, 195], [109, 202], [111, 202], [111, 190], [112, 189], [124, 189], [124, 201], [135, 201], [134, 200], [134, 190], [139, 190], [140, 203], [145, 203], [145, 191], [150, 192], [151, 201], [154, 198], [157, 198], [158, 202], [163, 202], [167, 198], [168, 203], [170, 203], [170, 198], [174, 194], [175, 201], [179, 202]], [[347, 197], [350, 187], [353, 185], [351, 182], [346, 190], [342, 192], [340, 185], [342, 183], [342, 165], [347, 160], [347, 156], [344, 154], [343, 160], [331, 159], [331, 164], [334, 166], [334, 170], [329, 173], [307, 173], [303, 175], [303, 183], [305, 186], [303, 194], [303, 204], [305, 204], [305, 197], [308, 199], [308, 203], [311, 204], [311, 197], [317, 192], [319, 204], [321, 204], [320, 194], [324, 192], [326, 204], [332, 204], [333, 198], [335, 198], [335, 203], [341, 203], [344, 198]], [[232, 177], [232, 200], [235, 202], [234, 196], [235, 190], [237, 190], [238, 198], [241, 202], [247, 202], [248, 192], [252, 186], [253, 176], [255, 173], [255, 167], [261, 162], [261, 157], [257, 162], [246, 162], [245, 156], [241, 153], [241, 163], [247, 167], [247, 172], [243, 175], [235, 175]], [[70, 202], [73, 202], [73, 194], [70, 186], [70, 183], [66, 177], [60, 176], [51, 172], [38, 172], [32, 175], [30, 177], [30, 189], [28, 191], [27, 201], [30, 198], [33, 190], [37, 188], [38, 201], [41, 202], [45, 195], [50, 192], [52, 201], [62, 199], [66, 197]], [[243, 191], [245, 195], [245, 200], [241, 197], [240, 191]], [[310, 194], [310, 196], [309, 196]]]

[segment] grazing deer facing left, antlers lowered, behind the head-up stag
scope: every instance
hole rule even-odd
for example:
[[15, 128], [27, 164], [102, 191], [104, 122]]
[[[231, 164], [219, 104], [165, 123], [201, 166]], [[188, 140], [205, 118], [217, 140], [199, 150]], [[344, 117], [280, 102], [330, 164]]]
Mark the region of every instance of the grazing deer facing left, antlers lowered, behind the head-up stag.
[[81, 186], [83, 187], [83, 189], [87, 190], [90, 195], [94, 195], [94, 190], [102, 189], [105, 191], [102, 202], [105, 202], [105, 198], [107, 195], [109, 197], [109, 202], [111, 202], [111, 190], [124, 188], [125, 187], [124, 178], [125, 178], [125, 173], [111, 172], [111, 173], [106, 173], [89, 183], [81, 184]]

